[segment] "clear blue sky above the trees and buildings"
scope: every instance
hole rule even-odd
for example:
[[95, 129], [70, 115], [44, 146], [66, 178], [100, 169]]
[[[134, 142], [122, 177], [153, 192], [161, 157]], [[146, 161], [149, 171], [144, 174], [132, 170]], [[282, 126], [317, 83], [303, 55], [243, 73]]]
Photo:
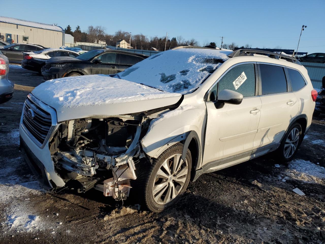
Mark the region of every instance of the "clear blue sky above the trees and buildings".
[[[121, 3], [121, 5], [120, 5]], [[125, 6], [125, 7], [123, 7]], [[221, 44], [235, 42], [252, 47], [325, 52], [325, 0], [222, 1], [3, 1], [1, 15], [72, 29], [102, 25], [150, 36], [183, 36]], [[5, 10], [5, 11], [4, 11]]]

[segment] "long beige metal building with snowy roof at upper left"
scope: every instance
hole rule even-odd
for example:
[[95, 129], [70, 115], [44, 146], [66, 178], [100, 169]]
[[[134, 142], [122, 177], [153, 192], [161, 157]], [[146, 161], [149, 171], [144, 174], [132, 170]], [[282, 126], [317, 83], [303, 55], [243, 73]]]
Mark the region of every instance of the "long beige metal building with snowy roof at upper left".
[[59, 48], [64, 45], [64, 29], [57, 25], [0, 16], [0, 40]]

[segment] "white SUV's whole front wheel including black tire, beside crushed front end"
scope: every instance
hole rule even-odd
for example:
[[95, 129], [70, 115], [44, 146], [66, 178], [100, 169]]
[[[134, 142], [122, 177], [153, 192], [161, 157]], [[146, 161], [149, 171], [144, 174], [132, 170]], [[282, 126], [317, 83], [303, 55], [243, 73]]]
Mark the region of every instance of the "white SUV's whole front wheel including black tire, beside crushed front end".
[[178, 170], [173, 170], [174, 161], [181, 157], [182, 151], [183, 144], [176, 143], [154, 159], [152, 165], [148, 162], [136, 165], [133, 195], [137, 195], [140, 204], [153, 212], [161, 212], [179, 200], [188, 186], [192, 168], [191, 153], [187, 150], [186, 161], [181, 160], [179, 168], [175, 165]]

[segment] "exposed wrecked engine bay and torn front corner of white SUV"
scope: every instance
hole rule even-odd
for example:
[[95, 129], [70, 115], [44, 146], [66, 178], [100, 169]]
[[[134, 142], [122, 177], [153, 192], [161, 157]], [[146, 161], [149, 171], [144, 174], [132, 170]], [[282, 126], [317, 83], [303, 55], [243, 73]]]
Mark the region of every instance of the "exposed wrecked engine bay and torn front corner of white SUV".
[[119, 115], [64, 121], [49, 141], [57, 174], [66, 187], [86, 192], [95, 188], [116, 200], [130, 192], [135, 165], [146, 155], [139, 140], [150, 119], [145, 115]]

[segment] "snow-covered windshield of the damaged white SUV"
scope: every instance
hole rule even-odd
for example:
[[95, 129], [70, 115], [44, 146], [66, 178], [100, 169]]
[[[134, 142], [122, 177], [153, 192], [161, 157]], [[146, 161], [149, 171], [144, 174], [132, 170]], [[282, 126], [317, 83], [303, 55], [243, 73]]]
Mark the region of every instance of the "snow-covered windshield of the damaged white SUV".
[[115, 77], [167, 92], [188, 94], [227, 60], [230, 53], [203, 48], [168, 50], [136, 63]]

